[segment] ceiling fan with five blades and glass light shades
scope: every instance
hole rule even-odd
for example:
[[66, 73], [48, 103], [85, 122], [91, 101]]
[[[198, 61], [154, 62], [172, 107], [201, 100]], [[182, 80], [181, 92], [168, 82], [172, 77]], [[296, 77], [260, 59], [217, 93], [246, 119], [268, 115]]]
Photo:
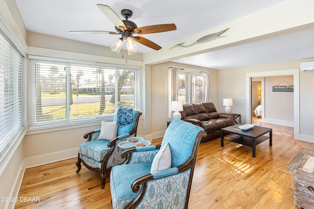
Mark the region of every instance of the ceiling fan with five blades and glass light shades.
[[112, 34], [119, 35], [121, 34], [121, 38], [119, 38], [110, 48], [111, 51], [119, 53], [123, 42], [127, 42], [127, 50], [129, 55], [135, 54], [137, 46], [134, 40], [142, 45], [148, 46], [155, 50], [159, 50], [161, 46], [156, 43], [143, 38], [141, 36], [133, 36], [139, 34], [149, 34], [149, 33], [160, 33], [171, 30], [176, 30], [177, 27], [174, 23], [170, 24], [157, 24], [157, 25], [149, 25], [144, 27], [137, 27], [135, 23], [129, 21], [128, 19], [132, 17], [133, 12], [129, 9], [121, 10], [121, 15], [125, 18], [125, 20], [121, 20], [119, 16], [107, 5], [97, 4], [97, 6], [102, 10], [102, 12], [107, 16], [107, 18], [115, 25], [116, 32], [113, 31], [70, 31], [70, 33], [104, 33], [104, 34]]

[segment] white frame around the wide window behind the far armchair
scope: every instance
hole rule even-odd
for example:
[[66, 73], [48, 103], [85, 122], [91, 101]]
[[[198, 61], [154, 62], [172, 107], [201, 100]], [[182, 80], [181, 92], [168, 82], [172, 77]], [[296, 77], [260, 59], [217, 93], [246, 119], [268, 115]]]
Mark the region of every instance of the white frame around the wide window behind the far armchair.
[[[28, 55], [29, 59], [29, 80], [30, 80], [30, 85], [29, 85], [29, 90], [28, 90], [28, 95], [29, 95], [29, 100], [28, 100], [28, 132], [29, 134], [31, 133], [42, 133], [47, 131], [52, 131], [52, 130], [64, 130], [64, 129], [70, 129], [70, 128], [76, 128], [76, 127], [83, 127], [86, 125], [99, 125], [99, 121], [102, 120], [113, 120], [116, 112], [117, 112], [117, 102], [115, 103], [115, 113], [113, 114], [108, 114], [108, 115], [103, 115], [103, 116], [91, 116], [91, 117], [78, 117], [78, 118], [70, 118], [70, 119], [65, 119], [65, 120], [57, 120], [57, 121], [48, 121], [46, 123], [42, 124], [36, 124], [36, 123], [31, 123], [31, 121], [35, 119], [35, 111], [34, 111], [34, 104], [35, 104], [35, 68], [31, 67], [32, 62], [37, 61], [42, 61], [42, 62], [58, 62], [60, 64], [65, 64], [65, 65], [82, 65], [82, 66], [89, 66], [93, 68], [100, 68], [100, 69], [115, 69], [117, 72], [118, 70], [133, 70], [135, 73], [134, 77], [134, 82], [135, 82], [135, 92], [134, 92], [134, 106], [135, 110], [140, 110], [140, 67], [137, 66], [123, 66], [123, 65], [114, 65], [114, 64], [106, 64], [106, 63], [98, 63], [98, 62], [88, 62], [88, 61], [78, 61], [78, 60], [71, 60], [71, 59], [62, 59], [62, 58], [54, 58], [54, 57], [42, 57], [42, 56], [37, 56], [37, 55]], [[34, 63], [33, 63], [34, 64]], [[70, 68], [69, 68], [70, 69]], [[68, 70], [68, 69], [67, 69]], [[69, 79], [67, 79], [67, 86], [69, 87], [68, 83], [70, 82]], [[66, 90], [69, 92], [68, 90]], [[115, 91], [117, 92], [117, 91]], [[117, 94], [117, 93], [115, 93]], [[69, 102], [69, 96], [67, 93], [66, 96], [66, 103]]]

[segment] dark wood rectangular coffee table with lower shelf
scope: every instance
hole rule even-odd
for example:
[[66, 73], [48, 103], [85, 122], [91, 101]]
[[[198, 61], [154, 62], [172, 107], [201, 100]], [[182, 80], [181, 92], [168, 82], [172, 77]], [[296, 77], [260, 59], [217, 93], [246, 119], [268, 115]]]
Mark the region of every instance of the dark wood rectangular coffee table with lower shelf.
[[[262, 143], [264, 140], [269, 138], [269, 146], [272, 146], [272, 131], [271, 128], [265, 128], [261, 126], [254, 126], [253, 128], [243, 131], [239, 128], [240, 125], [236, 124], [221, 129], [221, 146], [224, 146], [224, 139], [232, 141], [238, 144], [252, 147], [252, 157], [255, 158], [255, 147], [259, 143]], [[224, 138], [225, 133], [233, 134], [232, 136]], [[268, 136], [263, 136], [269, 133]]]

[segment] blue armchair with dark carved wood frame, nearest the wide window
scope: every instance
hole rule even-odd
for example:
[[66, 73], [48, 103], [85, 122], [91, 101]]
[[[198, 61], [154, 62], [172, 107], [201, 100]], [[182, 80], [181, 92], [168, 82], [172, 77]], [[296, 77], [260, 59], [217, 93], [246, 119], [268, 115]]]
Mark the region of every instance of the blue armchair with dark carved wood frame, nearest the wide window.
[[[119, 108], [120, 110], [120, 108]], [[114, 122], [118, 120], [118, 113], [114, 117]], [[130, 123], [115, 125], [114, 132], [116, 134], [113, 139], [98, 139], [105, 124], [102, 122], [102, 128], [84, 135], [87, 141], [78, 148], [78, 161], [76, 163], [78, 169], [77, 173], [81, 169], [83, 163], [85, 167], [92, 171], [100, 172], [100, 180], [102, 188], [105, 187], [106, 173], [110, 172], [111, 167], [114, 165], [121, 164], [125, 161], [125, 157], [122, 157], [122, 149], [118, 146], [118, 143], [127, 140], [130, 137], [135, 137], [137, 132], [137, 125], [139, 117], [142, 115], [139, 111], [131, 110], [130, 112]], [[108, 123], [110, 124], [110, 123]], [[110, 124], [111, 125], [111, 124]]]

